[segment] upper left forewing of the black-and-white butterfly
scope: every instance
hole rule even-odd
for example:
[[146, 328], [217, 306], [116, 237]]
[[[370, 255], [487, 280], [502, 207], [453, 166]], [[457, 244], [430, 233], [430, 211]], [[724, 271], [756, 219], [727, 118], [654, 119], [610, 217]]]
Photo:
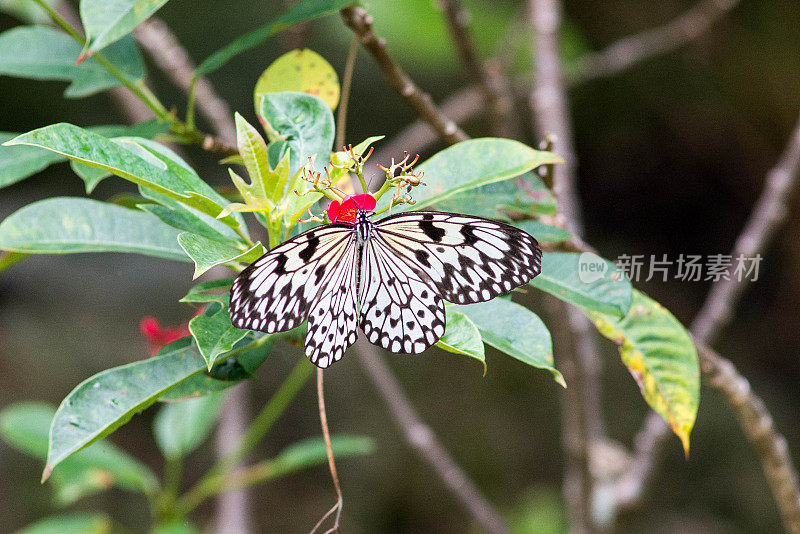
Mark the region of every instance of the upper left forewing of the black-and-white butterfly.
[[234, 280], [231, 322], [271, 334], [300, 326], [338, 264], [354, 263], [352, 227], [312, 228], [267, 252]]

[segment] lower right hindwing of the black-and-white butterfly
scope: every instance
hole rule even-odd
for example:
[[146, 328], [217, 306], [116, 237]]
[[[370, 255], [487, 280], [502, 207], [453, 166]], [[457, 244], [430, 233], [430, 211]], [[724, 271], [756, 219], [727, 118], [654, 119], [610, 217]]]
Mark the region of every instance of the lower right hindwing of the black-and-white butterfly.
[[430, 279], [375, 232], [362, 249], [359, 282], [359, 325], [371, 343], [418, 354], [444, 334], [444, 302]]

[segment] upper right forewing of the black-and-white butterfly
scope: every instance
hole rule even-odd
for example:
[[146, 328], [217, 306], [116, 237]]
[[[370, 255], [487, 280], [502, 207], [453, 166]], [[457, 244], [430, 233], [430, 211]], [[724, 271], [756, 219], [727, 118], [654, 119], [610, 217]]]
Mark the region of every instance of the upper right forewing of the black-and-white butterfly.
[[542, 270], [536, 239], [481, 217], [411, 211], [381, 219], [375, 229], [398, 258], [431, 280], [442, 298], [458, 304], [490, 300]]

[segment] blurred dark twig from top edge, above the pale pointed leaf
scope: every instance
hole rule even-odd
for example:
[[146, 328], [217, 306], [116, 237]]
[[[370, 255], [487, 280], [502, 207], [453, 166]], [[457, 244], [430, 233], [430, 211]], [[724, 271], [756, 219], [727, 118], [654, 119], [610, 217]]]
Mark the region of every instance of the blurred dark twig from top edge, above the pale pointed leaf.
[[481, 65], [469, 29], [470, 15], [464, 9], [461, 0], [439, 0], [439, 4], [444, 11], [456, 50], [467, 71], [467, 77], [483, 95], [483, 104], [492, 134], [498, 137], [512, 137], [515, 133], [513, 97], [508, 80], [503, 76], [501, 65], [497, 62], [486, 67]]

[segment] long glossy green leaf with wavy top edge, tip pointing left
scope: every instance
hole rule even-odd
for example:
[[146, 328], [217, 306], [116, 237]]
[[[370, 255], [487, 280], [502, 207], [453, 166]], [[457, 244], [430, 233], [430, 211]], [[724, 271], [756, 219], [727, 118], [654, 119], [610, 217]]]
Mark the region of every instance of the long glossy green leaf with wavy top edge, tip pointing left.
[[[105, 169], [211, 217], [219, 215], [222, 206], [228, 203], [174, 152], [148, 139], [110, 140], [72, 124], [60, 123], [22, 134], [6, 145], [46, 148], [71, 160]], [[241, 217], [232, 217], [222, 220], [229, 226], [244, 227]]]

